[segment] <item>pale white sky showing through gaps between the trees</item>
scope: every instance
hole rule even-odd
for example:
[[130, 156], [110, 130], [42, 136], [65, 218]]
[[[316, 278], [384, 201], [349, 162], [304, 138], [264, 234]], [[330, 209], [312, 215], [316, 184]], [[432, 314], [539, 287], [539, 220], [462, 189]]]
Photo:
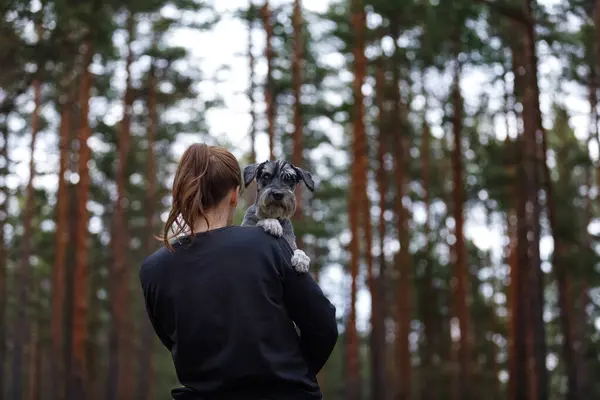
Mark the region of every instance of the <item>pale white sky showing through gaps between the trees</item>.
[[[257, 3], [261, 0], [254, 0]], [[539, 3], [545, 5], [555, 5], [561, 0], [538, 0]], [[271, 0], [273, 5], [281, 3], [290, 3], [291, 0]], [[330, 0], [303, 0], [304, 9], [313, 12], [325, 11], [330, 3]], [[249, 101], [246, 97], [245, 90], [248, 85], [248, 61], [244, 54], [247, 51], [247, 26], [237, 20], [232, 12], [238, 9], [247, 7], [248, 0], [227, 0], [215, 1], [215, 8], [222, 13], [222, 20], [210, 32], [198, 32], [189, 29], [179, 30], [171, 35], [169, 42], [174, 45], [179, 45], [188, 48], [191, 51], [192, 59], [197, 63], [197, 67], [201, 68], [204, 75], [207, 77], [216, 77], [220, 79], [219, 83], [203, 83], [201, 96], [204, 99], [211, 99], [218, 94], [222, 96], [225, 107], [211, 110], [207, 113], [206, 119], [212, 135], [226, 139], [229, 143], [235, 144], [234, 153], [236, 156], [241, 156], [243, 152], [249, 149]], [[165, 13], [169, 13], [167, 9]], [[310, 28], [310, 27], [309, 27]], [[118, 40], [118, 39], [117, 39]], [[264, 48], [264, 34], [262, 30], [257, 29], [254, 36], [254, 49], [257, 56], [261, 56]], [[560, 65], [556, 60], [545, 56], [547, 49], [543, 46], [539, 48], [540, 54], [540, 89], [541, 89], [541, 107], [547, 118], [551, 102], [557, 99], [552, 98], [549, 93], [554, 92], [557, 87], [558, 78], [560, 76]], [[321, 54], [323, 62], [336, 63], [338, 57], [332, 54]], [[228, 66], [227, 71], [218, 72], [220, 67]], [[256, 80], [257, 84], [262, 82], [265, 76], [266, 65], [261, 59], [257, 60]], [[124, 74], [120, 73], [116, 76], [115, 86], [123, 87]], [[466, 101], [467, 107], [474, 107], [477, 104], [477, 99], [482, 90], [486, 90], [492, 94], [493, 104], [500, 105], [502, 92], [498, 90], [490, 90], [486, 85], [489, 76], [481, 69], [467, 69], [463, 76], [461, 90]], [[431, 92], [439, 92], [445, 90], [444, 85], [440, 85], [439, 77], [427, 78], [426, 86]], [[365, 94], [370, 92], [370, 87], [365, 85], [363, 91]], [[494, 100], [495, 98], [495, 100]], [[570, 124], [575, 129], [576, 135], [579, 138], [587, 136], [588, 129], [588, 114], [589, 104], [586, 100], [586, 95], [582, 89], [573, 85], [565, 85], [561, 98], [558, 99], [567, 107], [570, 112]], [[494, 103], [494, 101], [496, 103]], [[415, 109], [422, 107], [422, 101], [418, 99], [413, 105]], [[27, 103], [27, 107], [32, 109], [31, 101]], [[91, 103], [92, 112], [98, 114], [106, 113], [105, 120], [113, 122], [120, 119], [120, 110], [104, 110], [102, 105], [94, 102]], [[258, 113], [264, 112], [264, 105], [258, 104]], [[52, 117], [52, 110], [44, 110], [48, 117]], [[54, 115], [56, 118], [56, 115]], [[427, 114], [429, 122], [434, 125], [432, 133], [437, 136], [443, 135], [443, 131], [439, 126], [441, 121], [441, 112], [439, 110], [430, 110]], [[24, 123], [24, 122], [23, 122]], [[495, 132], [499, 137], [506, 135], [504, 121], [495, 121]], [[546, 119], [544, 124], [549, 127], [551, 121]], [[14, 122], [15, 126], [19, 122]], [[336, 154], [336, 159], [340, 164], [347, 162], [347, 155], [336, 149], [343, 141], [343, 132], [339, 126], [328, 126], [327, 132], [331, 135], [333, 142], [332, 146], [325, 146], [320, 149], [314, 149], [311, 152], [313, 158], [317, 158], [322, 152], [330, 152]], [[173, 152], [175, 155], [180, 155], [186, 146], [197, 141], [197, 136], [185, 135], [178, 140], [174, 145]], [[29, 138], [27, 135], [21, 139], [16, 139], [11, 142], [13, 149], [12, 155], [16, 162], [16, 176], [12, 177], [8, 184], [10, 187], [16, 187], [19, 182], [23, 182], [28, 176], [28, 161], [29, 161]], [[92, 139], [90, 141], [92, 149], [98, 146], [97, 142]], [[591, 147], [590, 151], [594, 157], [597, 156], [597, 149]], [[268, 139], [266, 134], [259, 134], [256, 139], [256, 152], [258, 160], [264, 160], [268, 155]], [[47, 176], [38, 177], [35, 181], [37, 186], [44, 186], [50, 190], [56, 188], [57, 178], [53, 174], [56, 171], [58, 163], [58, 152], [56, 148], [56, 133], [54, 131], [42, 132], [40, 141], [35, 152], [35, 159], [38, 166], [38, 173], [49, 173]], [[413, 210], [415, 219], [422, 219], [423, 211], [416, 207]], [[51, 229], [52, 227], [48, 227]], [[346, 237], [348, 235], [345, 235]], [[483, 250], [491, 249], [494, 259], [498, 260], [501, 256], [504, 236], [499, 227], [490, 227], [485, 224], [485, 215], [482, 210], [471, 210], [467, 215], [466, 236], [473, 240], [475, 244]], [[394, 251], [398, 248], [397, 243], [391, 243], [389, 251]], [[541, 243], [542, 254], [547, 255], [552, 249], [552, 241], [549, 238], [543, 238]], [[323, 290], [331, 298], [332, 302], [338, 309], [338, 314], [342, 315], [346, 311], [346, 296], [349, 289], [350, 281], [344, 276], [339, 267], [329, 268], [322, 276], [321, 281]], [[359, 286], [360, 292], [358, 295], [357, 312], [359, 329], [365, 330], [368, 325], [368, 316], [370, 310], [370, 298], [364, 284]]]

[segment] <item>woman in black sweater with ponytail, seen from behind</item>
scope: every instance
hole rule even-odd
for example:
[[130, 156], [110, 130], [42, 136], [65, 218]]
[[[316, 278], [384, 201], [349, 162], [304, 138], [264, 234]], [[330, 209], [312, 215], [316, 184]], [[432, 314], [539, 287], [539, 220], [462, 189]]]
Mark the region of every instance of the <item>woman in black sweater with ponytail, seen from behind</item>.
[[175, 174], [165, 246], [141, 266], [146, 311], [183, 385], [171, 394], [320, 399], [316, 375], [337, 341], [335, 308], [309, 274], [292, 269], [284, 239], [231, 226], [241, 186], [230, 152], [189, 147]]

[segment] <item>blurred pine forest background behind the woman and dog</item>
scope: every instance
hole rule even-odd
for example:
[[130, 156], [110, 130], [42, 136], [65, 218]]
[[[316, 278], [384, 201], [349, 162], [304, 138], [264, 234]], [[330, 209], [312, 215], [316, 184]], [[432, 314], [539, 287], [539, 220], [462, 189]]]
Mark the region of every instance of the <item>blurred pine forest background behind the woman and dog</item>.
[[[313, 172], [326, 399], [600, 398], [600, 1], [228, 3], [1, 2], [0, 398], [177, 385], [137, 272], [184, 136]], [[243, 140], [207, 122], [231, 66], [173, 44], [223, 20]]]

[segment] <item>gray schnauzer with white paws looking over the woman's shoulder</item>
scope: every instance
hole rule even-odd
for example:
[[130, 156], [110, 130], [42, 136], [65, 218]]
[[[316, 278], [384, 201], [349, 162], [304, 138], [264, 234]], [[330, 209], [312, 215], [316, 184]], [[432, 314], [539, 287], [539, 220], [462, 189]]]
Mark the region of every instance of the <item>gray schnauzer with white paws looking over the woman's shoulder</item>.
[[244, 168], [244, 186], [254, 179], [256, 201], [246, 210], [242, 226], [262, 226], [273, 236], [283, 236], [294, 250], [292, 266], [297, 272], [307, 273], [310, 258], [296, 245], [290, 217], [296, 211], [296, 185], [303, 181], [311, 192], [315, 189], [311, 174], [285, 161], [265, 161]]

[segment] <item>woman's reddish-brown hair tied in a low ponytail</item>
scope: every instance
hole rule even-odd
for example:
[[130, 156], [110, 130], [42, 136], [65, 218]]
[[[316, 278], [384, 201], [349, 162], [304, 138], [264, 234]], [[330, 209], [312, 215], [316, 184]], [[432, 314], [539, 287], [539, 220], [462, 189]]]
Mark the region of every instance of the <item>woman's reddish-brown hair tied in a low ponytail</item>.
[[[173, 251], [170, 240], [187, 231], [193, 240], [198, 218], [204, 218], [208, 225], [205, 211], [238, 186], [242, 187], [240, 164], [228, 150], [203, 143], [188, 147], [175, 172], [173, 204], [160, 238], [165, 246]], [[173, 233], [169, 235], [170, 230]]]

